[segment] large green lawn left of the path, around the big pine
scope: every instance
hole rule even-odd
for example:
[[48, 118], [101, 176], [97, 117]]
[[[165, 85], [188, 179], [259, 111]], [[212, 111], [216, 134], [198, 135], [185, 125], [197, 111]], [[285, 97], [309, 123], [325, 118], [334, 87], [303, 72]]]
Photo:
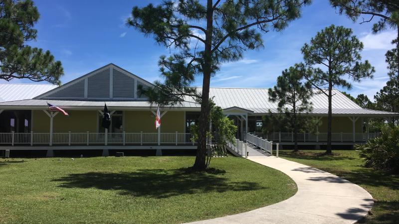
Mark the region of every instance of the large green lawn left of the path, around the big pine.
[[0, 223], [181, 223], [293, 196], [285, 174], [236, 157], [187, 173], [195, 157], [0, 159]]

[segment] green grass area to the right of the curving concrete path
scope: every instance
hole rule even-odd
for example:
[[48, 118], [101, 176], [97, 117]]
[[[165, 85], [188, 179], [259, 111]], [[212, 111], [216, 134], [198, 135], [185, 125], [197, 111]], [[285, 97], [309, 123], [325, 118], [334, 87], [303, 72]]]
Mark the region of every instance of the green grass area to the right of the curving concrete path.
[[293, 154], [291, 150], [280, 151], [280, 157], [312, 166], [366, 189], [374, 198], [372, 214], [361, 223], [399, 223], [399, 176], [363, 167], [363, 160], [355, 150], [333, 150], [339, 155], [317, 156], [324, 151], [304, 150]]

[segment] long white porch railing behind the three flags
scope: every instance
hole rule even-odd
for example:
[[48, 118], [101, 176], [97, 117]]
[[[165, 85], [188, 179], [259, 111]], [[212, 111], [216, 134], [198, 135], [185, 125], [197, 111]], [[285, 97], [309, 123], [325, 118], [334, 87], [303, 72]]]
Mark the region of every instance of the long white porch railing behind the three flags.
[[[0, 144], [6, 145], [126, 145], [126, 144], [192, 144], [191, 133], [0, 133]], [[158, 142], [160, 139], [160, 142]]]

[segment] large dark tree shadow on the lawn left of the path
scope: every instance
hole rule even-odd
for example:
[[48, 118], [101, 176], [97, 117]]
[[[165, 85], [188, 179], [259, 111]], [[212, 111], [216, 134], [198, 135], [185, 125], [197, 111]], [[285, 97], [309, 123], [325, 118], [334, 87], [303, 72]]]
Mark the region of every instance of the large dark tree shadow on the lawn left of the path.
[[[222, 172], [221, 172], [222, 173]], [[265, 189], [256, 182], [230, 181], [216, 174], [186, 172], [186, 169], [148, 169], [137, 172], [88, 172], [54, 179], [63, 188], [118, 190], [121, 195], [168, 198], [182, 194], [252, 191]]]

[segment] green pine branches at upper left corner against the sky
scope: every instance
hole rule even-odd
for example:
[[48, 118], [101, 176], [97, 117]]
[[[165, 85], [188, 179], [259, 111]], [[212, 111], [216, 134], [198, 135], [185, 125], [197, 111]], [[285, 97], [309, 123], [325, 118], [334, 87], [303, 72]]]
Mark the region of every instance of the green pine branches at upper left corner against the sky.
[[38, 19], [31, 0], [0, 0], [0, 79], [60, 84], [61, 62], [54, 61], [49, 51], [25, 44], [36, 38], [33, 25]]

